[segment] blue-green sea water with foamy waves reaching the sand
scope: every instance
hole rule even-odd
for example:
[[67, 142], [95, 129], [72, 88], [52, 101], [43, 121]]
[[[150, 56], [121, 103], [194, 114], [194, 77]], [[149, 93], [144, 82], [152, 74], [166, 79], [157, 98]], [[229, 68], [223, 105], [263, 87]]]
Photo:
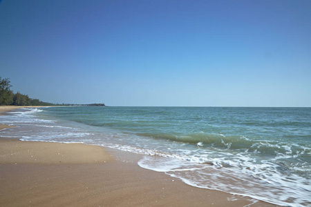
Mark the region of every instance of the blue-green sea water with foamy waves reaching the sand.
[[1, 137], [117, 148], [191, 186], [311, 206], [311, 108], [28, 108], [0, 124], [19, 126]]

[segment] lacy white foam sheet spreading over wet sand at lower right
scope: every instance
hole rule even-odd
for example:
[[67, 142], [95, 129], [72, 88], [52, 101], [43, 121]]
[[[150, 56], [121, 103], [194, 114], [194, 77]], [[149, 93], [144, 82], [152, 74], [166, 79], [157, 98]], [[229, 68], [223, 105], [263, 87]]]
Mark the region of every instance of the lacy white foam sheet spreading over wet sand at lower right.
[[[311, 190], [308, 184], [303, 184], [308, 181], [301, 177], [294, 177], [299, 184], [296, 181], [289, 184], [288, 181], [284, 181], [282, 175], [278, 174], [274, 174], [273, 179], [263, 179], [263, 177], [259, 179], [258, 176], [261, 174], [255, 172], [254, 177], [256, 179], [252, 179], [252, 177], [247, 177], [245, 173], [236, 174], [235, 169], [213, 168], [208, 165], [185, 163], [178, 159], [147, 156], [141, 159], [138, 164], [142, 168], [165, 172], [171, 177], [182, 179], [191, 186], [222, 190], [284, 206], [301, 206], [301, 204], [308, 202], [307, 198]], [[261, 167], [267, 168], [269, 166], [263, 165]], [[258, 170], [258, 166], [251, 166], [250, 168], [255, 171]], [[268, 184], [265, 184], [265, 181]], [[297, 194], [296, 192], [301, 191], [299, 188], [305, 189], [303, 190], [305, 193]], [[288, 203], [288, 200], [293, 201]]]

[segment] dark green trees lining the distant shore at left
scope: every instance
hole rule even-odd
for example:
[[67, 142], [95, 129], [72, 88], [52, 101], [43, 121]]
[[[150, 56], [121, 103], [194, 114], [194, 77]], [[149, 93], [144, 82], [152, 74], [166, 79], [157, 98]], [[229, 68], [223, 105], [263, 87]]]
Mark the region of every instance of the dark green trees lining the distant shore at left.
[[14, 93], [10, 88], [10, 79], [2, 79], [0, 76], [0, 105], [15, 105], [15, 106], [105, 106], [104, 103], [91, 104], [54, 104], [40, 101], [39, 99], [30, 99], [28, 95], [23, 95], [20, 92]]

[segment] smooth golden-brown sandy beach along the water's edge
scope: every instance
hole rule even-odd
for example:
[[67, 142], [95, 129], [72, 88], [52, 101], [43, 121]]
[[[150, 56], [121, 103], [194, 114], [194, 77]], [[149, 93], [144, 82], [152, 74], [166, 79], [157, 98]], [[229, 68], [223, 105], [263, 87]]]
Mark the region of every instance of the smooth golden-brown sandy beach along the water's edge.
[[1, 137], [0, 206], [274, 206], [188, 186], [140, 168], [140, 158], [100, 146]]

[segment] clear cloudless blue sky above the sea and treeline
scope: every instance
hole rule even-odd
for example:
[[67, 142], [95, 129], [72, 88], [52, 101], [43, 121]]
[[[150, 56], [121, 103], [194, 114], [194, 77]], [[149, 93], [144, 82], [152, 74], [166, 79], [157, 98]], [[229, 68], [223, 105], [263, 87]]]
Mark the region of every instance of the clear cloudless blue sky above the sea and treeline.
[[0, 75], [52, 103], [311, 106], [310, 0], [3, 0]]

